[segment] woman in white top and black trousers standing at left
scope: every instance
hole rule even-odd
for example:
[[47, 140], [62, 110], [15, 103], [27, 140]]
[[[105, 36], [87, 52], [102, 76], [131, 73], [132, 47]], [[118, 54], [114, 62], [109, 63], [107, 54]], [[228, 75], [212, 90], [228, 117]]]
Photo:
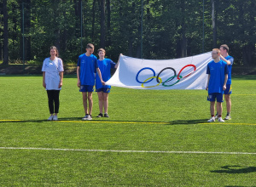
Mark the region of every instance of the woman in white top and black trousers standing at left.
[[43, 71], [43, 86], [47, 91], [48, 105], [50, 116], [48, 120], [58, 120], [60, 106], [60, 90], [63, 80], [63, 63], [62, 59], [58, 58], [58, 49], [55, 46], [50, 47], [50, 57], [44, 59]]

